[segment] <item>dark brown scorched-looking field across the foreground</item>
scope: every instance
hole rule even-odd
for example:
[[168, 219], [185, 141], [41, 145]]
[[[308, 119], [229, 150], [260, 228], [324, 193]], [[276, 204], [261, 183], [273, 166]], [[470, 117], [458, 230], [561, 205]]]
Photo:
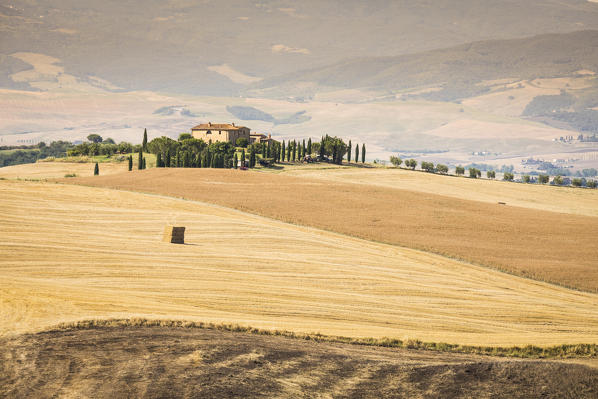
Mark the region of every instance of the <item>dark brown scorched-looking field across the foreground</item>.
[[125, 327], [0, 340], [0, 396], [595, 398], [598, 369], [206, 329]]

